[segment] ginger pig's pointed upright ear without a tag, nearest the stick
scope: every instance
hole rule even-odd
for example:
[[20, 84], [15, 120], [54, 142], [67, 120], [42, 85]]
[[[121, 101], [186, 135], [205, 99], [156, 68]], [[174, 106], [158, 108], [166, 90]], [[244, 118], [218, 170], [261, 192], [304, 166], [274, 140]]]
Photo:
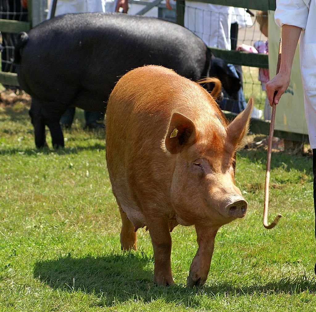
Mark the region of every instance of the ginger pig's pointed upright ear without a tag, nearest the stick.
[[241, 147], [242, 140], [248, 132], [252, 106], [253, 100], [250, 98], [246, 109], [239, 113], [226, 129], [228, 140], [235, 148]]

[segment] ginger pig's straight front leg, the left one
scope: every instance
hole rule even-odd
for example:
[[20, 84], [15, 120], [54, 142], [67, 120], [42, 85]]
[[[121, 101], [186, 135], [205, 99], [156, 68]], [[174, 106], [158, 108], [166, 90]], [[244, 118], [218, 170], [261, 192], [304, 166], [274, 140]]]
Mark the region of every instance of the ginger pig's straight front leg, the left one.
[[146, 216], [147, 227], [154, 248], [154, 282], [157, 285], [172, 285], [171, 272], [171, 236], [169, 223], [165, 216]]

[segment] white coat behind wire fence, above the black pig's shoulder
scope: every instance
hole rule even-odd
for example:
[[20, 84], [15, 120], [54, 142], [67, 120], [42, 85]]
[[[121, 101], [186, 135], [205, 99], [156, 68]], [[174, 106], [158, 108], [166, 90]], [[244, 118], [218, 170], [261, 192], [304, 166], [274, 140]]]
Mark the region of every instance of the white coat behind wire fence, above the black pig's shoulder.
[[184, 27], [200, 37], [207, 46], [230, 50], [233, 15], [233, 7], [185, 1]]

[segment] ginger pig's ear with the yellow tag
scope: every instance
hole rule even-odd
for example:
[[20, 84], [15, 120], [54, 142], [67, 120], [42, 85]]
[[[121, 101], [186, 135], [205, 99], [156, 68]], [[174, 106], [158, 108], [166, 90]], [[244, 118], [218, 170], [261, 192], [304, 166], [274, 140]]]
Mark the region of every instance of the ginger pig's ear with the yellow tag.
[[167, 137], [166, 148], [171, 154], [179, 153], [184, 146], [196, 141], [196, 130], [193, 121], [180, 113], [173, 113]]

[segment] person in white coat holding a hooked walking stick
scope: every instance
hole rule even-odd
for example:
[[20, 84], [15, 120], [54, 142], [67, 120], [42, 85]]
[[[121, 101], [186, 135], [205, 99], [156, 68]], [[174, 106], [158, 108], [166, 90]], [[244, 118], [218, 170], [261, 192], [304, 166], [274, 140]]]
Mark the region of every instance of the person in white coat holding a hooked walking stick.
[[[316, 0], [276, 0], [275, 21], [282, 27], [282, 56], [279, 73], [267, 84], [270, 105], [280, 100], [289, 86], [291, 68], [300, 39], [300, 63], [304, 92], [305, 118], [313, 150], [313, 190], [316, 214]], [[316, 222], [315, 222], [316, 236]], [[316, 274], [316, 264], [315, 264]]]

